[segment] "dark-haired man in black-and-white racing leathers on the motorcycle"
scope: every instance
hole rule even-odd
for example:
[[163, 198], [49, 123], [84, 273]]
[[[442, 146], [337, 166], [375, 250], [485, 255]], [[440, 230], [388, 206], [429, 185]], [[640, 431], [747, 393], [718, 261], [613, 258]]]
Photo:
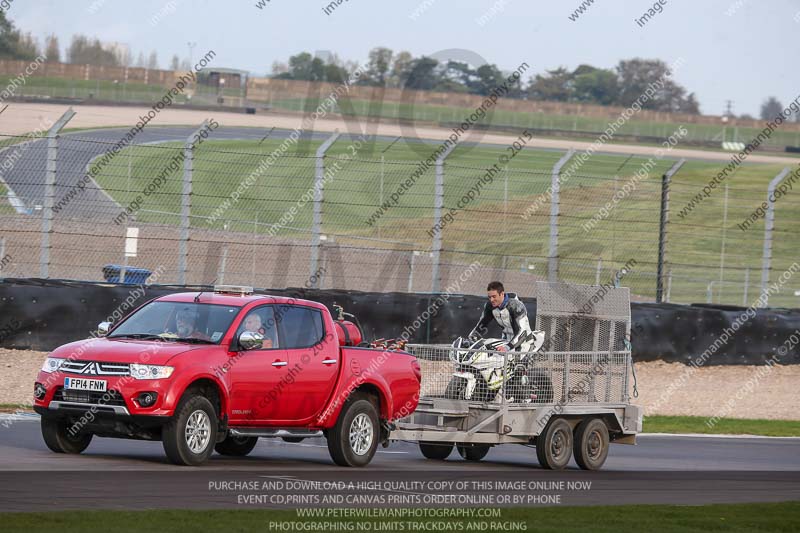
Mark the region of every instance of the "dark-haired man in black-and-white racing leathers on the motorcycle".
[[528, 322], [528, 310], [525, 304], [513, 292], [506, 293], [503, 284], [493, 281], [486, 287], [489, 301], [483, 307], [478, 324], [469, 334], [471, 340], [477, 340], [486, 333], [486, 327], [494, 319], [503, 330], [503, 340], [511, 346], [517, 346], [518, 351], [527, 351], [530, 342], [519, 340], [531, 334], [531, 325]]

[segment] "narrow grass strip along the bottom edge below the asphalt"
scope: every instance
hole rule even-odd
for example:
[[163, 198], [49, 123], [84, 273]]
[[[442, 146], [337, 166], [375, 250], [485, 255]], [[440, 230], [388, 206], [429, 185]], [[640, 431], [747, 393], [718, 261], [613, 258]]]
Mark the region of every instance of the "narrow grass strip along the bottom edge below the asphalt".
[[[800, 502], [717, 504], [717, 505], [620, 505], [589, 507], [515, 507], [501, 510], [499, 518], [414, 518], [404, 522], [404, 531], [426, 531], [425, 524], [438, 522], [436, 531], [485, 531], [470, 528], [470, 523], [497, 522], [497, 527], [514, 527], [508, 531], [542, 531], [569, 533], [587, 531], [619, 533], [623, 531], [696, 532], [709, 531], [785, 531], [800, 527]], [[0, 513], [3, 530], [28, 532], [71, 531], [161, 531], [183, 533], [189, 528], [200, 531], [271, 531], [280, 527], [271, 522], [302, 521], [309, 528], [323, 527], [323, 522], [336, 524], [340, 531], [398, 531], [386, 529], [387, 520], [363, 518], [298, 518], [293, 510], [226, 510], [226, 511], [63, 511], [38, 513]], [[397, 521], [397, 520], [392, 520]], [[358, 529], [358, 523], [364, 524]], [[449, 529], [444, 529], [450, 526]], [[345, 529], [352, 527], [352, 529]], [[458, 528], [458, 529], [456, 529]], [[524, 528], [524, 529], [522, 529]], [[281, 531], [323, 531], [323, 529], [281, 529]], [[497, 529], [504, 531], [506, 529]]]

